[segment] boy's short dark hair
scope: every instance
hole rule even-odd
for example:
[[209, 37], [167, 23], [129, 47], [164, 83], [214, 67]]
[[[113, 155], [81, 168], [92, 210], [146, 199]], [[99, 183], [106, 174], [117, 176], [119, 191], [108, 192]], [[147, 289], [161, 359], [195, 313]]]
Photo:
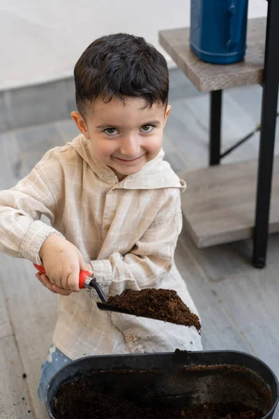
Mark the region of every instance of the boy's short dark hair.
[[167, 104], [169, 72], [167, 61], [144, 38], [113, 34], [96, 39], [75, 64], [75, 99], [84, 117], [86, 105], [98, 96], [109, 102], [113, 96], [146, 99]]

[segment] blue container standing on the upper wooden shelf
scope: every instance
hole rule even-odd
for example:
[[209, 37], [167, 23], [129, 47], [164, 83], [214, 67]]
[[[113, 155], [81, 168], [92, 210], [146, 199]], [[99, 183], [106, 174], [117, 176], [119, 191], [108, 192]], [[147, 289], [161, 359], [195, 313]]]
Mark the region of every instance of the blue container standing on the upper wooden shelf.
[[191, 0], [191, 50], [211, 64], [241, 61], [247, 14], [248, 0]]

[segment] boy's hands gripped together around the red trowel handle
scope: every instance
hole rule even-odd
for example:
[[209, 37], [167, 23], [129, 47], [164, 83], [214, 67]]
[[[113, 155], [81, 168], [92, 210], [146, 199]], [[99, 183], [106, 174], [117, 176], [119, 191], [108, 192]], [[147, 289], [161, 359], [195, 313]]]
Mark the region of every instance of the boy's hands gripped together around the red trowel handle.
[[43, 242], [39, 256], [46, 274], [37, 273], [36, 277], [54, 293], [70, 295], [80, 291], [80, 270], [92, 272], [91, 264], [84, 261], [79, 249], [55, 233]]

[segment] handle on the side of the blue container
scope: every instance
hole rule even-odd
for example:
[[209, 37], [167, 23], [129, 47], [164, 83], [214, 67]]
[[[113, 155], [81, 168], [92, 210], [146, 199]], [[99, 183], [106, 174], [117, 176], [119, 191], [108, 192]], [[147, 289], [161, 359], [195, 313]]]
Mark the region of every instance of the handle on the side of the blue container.
[[[229, 40], [227, 41], [227, 49], [233, 50], [241, 39], [241, 29], [248, 0], [234, 0], [229, 6]], [[237, 7], [235, 5], [237, 4]]]

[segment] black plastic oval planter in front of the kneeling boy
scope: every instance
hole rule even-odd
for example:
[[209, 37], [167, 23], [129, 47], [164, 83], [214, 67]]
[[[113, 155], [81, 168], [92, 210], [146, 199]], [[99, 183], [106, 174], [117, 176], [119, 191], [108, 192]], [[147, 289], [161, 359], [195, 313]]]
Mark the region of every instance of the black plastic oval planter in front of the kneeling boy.
[[[193, 372], [188, 374], [185, 367], [196, 365], [208, 367], [220, 365], [220, 370], [212, 369], [210, 373], [197, 370], [196, 375]], [[225, 381], [218, 388], [216, 376], [222, 377], [222, 365], [250, 369], [248, 378], [256, 379], [259, 381], [261, 388], [266, 388], [269, 394], [269, 403], [266, 402], [266, 399], [261, 399], [257, 390], [250, 388], [249, 385], [247, 385], [246, 391], [246, 381], [238, 376], [237, 369], [235, 373], [234, 370], [229, 374], [225, 373]], [[129, 372], [125, 379], [123, 379], [122, 374], [119, 374], [119, 370]], [[115, 371], [118, 371], [118, 373], [114, 373]], [[146, 383], [146, 378], [142, 374], [146, 371], [160, 371], [160, 381], [154, 373], [154, 378], [151, 377], [150, 380], [149, 377], [149, 382]], [[100, 391], [102, 389], [107, 391], [107, 388], [110, 387], [110, 392], [118, 397], [125, 397], [126, 394], [133, 392], [133, 394], [136, 393], [137, 397], [144, 399], [146, 397], [146, 385], [148, 385], [149, 402], [153, 404], [155, 399], [164, 400], [166, 407], [172, 407], [173, 403], [177, 406], [181, 396], [183, 396], [184, 401], [187, 399], [190, 404], [197, 402], [249, 402], [249, 405], [253, 408], [259, 408], [259, 410], [265, 412], [262, 419], [271, 419], [279, 400], [278, 380], [275, 374], [264, 362], [247, 353], [237, 351], [177, 351], [174, 353], [102, 355], [80, 358], [70, 362], [56, 373], [47, 387], [45, 397], [45, 406], [50, 418], [55, 419], [52, 415], [52, 405], [59, 387], [63, 383], [86, 376], [90, 372], [95, 373], [92, 375], [93, 385]], [[234, 381], [237, 382], [237, 388]], [[202, 388], [204, 382], [206, 382], [205, 391]]]

